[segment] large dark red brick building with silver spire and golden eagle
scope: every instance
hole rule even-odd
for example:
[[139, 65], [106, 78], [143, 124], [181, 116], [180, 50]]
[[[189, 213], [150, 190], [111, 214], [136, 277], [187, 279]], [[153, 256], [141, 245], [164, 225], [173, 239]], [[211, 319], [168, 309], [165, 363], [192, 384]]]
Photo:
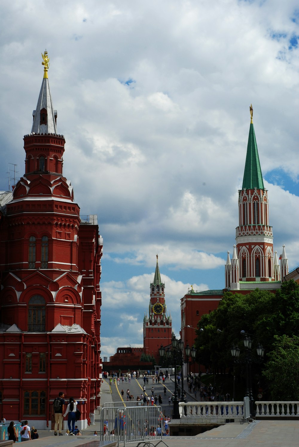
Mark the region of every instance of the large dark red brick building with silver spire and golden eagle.
[[101, 383], [101, 255], [97, 216], [81, 221], [63, 177], [65, 139], [56, 130], [48, 56], [24, 137], [25, 174], [0, 193], [0, 411], [51, 428], [60, 391], [93, 423]]

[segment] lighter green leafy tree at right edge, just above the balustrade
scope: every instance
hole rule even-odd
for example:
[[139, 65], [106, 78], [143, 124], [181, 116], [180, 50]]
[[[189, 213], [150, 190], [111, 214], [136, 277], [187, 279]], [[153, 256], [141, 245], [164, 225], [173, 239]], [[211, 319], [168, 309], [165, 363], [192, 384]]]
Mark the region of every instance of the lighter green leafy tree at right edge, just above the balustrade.
[[273, 350], [263, 375], [269, 381], [272, 400], [298, 401], [299, 396], [299, 337], [274, 335]]

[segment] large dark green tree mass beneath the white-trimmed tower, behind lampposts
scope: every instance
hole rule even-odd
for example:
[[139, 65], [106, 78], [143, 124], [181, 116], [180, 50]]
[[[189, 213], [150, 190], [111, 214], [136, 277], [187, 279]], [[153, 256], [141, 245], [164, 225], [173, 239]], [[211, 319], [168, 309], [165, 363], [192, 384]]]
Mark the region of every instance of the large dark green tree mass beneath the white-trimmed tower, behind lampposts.
[[[204, 330], [201, 332], [200, 328]], [[221, 332], [217, 332], [217, 329]], [[213, 367], [216, 371], [227, 371], [227, 368], [233, 365], [230, 347], [234, 344], [241, 350], [242, 363], [244, 344], [241, 330], [253, 335], [253, 353], [256, 353], [257, 343], [261, 343], [265, 348], [263, 367], [268, 371], [268, 363], [274, 361], [273, 353], [278, 349], [278, 339], [274, 336], [286, 335], [294, 340], [293, 334], [299, 333], [299, 285], [294, 281], [282, 283], [281, 289], [276, 293], [259, 289], [247, 295], [226, 292], [218, 308], [203, 315], [198, 322], [195, 340], [196, 361], [206, 367]], [[288, 358], [291, 357], [286, 356], [286, 363]], [[253, 364], [252, 367], [253, 376], [260, 375], [261, 366]], [[237, 375], [243, 371], [243, 367], [236, 365]], [[272, 397], [277, 398], [278, 394], [275, 393], [278, 392], [278, 387], [275, 388], [272, 384], [269, 371], [264, 378], [269, 381]], [[281, 370], [277, 368], [276, 371]], [[279, 381], [278, 373], [277, 380]]]

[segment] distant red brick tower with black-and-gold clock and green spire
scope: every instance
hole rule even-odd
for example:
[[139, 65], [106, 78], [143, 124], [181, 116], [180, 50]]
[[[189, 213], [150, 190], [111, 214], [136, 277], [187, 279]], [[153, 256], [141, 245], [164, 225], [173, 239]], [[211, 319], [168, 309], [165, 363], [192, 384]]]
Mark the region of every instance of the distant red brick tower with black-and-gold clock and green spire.
[[150, 285], [150, 303], [143, 318], [143, 351], [159, 360], [161, 345], [171, 344], [172, 318], [166, 312], [165, 284], [161, 281], [158, 255], [154, 280]]

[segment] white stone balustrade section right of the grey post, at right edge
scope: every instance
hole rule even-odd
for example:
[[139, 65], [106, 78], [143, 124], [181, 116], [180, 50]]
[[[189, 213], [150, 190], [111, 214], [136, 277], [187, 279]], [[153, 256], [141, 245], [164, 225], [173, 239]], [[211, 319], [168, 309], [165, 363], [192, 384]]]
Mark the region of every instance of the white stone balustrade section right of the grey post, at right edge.
[[299, 417], [299, 401], [258, 401], [258, 417]]

